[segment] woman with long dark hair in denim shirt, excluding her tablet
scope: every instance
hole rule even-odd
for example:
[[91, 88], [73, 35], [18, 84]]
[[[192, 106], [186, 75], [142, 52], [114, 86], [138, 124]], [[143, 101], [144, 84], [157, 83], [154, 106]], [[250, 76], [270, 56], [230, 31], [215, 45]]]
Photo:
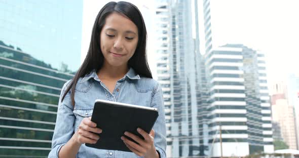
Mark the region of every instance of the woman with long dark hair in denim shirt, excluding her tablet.
[[[152, 79], [145, 46], [146, 29], [137, 7], [110, 2], [100, 10], [86, 59], [62, 88], [49, 157], [166, 157], [162, 89]], [[139, 144], [120, 138], [132, 152], [87, 147], [102, 132], [91, 122], [96, 99], [155, 107], [159, 117], [149, 134], [136, 129], [144, 140], [125, 133]]]

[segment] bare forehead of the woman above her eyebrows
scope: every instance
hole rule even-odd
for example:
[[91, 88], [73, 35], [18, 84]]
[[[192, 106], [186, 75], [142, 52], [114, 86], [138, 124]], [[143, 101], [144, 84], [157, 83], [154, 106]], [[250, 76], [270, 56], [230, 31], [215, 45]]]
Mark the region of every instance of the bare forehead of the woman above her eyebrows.
[[133, 23], [133, 21], [131, 21], [128, 17], [119, 13], [112, 13], [106, 17], [103, 30], [108, 28], [113, 28], [116, 31], [120, 31], [120, 32], [131, 31], [134, 33], [138, 33], [138, 28]]

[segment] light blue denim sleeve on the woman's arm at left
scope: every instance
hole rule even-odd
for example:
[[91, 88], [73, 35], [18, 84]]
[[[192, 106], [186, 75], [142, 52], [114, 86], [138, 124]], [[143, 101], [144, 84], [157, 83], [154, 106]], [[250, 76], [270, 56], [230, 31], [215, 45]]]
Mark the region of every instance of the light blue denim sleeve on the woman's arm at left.
[[61, 101], [61, 98], [66, 90], [66, 86], [70, 81], [63, 85], [56, 117], [56, 124], [54, 129], [54, 134], [52, 138], [52, 149], [48, 157], [58, 157], [58, 152], [61, 147], [70, 140], [74, 131], [74, 120], [75, 116], [73, 114], [73, 106], [70, 100], [70, 93], [67, 93]]

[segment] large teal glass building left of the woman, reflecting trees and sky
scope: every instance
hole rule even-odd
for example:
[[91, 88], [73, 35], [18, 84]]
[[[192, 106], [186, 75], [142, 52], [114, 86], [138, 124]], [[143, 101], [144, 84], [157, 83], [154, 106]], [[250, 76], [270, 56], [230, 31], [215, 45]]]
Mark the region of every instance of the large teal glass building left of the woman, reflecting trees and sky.
[[82, 2], [0, 1], [0, 157], [47, 156], [80, 66]]

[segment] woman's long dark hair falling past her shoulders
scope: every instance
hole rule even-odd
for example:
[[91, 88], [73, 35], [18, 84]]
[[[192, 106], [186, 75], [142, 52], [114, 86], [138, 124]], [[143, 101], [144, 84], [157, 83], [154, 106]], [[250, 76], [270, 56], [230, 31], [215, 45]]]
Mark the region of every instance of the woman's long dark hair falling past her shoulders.
[[105, 24], [106, 17], [114, 12], [128, 17], [138, 28], [137, 47], [134, 55], [128, 61], [128, 66], [132, 67], [135, 72], [141, 76], [153, 78], [146, 59], [146, 28], [140, 11], [129, 2], [109, 2], [100, 10], [96, 17], [86, 58], [76, 75], [74, 75], [68, 86], [66, 86], [67, 89], [61, 101], [63, 101], [65, 95], [71, 91], [71, 103], [74, 106], [74, 93], [79, 78], [90, 73], [93, 69], [97, 72], [102, 67], [104, 57], [100, 49], [100, 33]]

